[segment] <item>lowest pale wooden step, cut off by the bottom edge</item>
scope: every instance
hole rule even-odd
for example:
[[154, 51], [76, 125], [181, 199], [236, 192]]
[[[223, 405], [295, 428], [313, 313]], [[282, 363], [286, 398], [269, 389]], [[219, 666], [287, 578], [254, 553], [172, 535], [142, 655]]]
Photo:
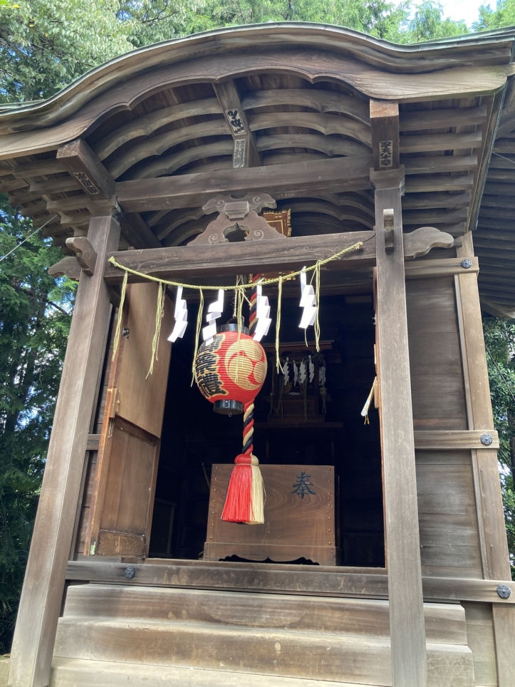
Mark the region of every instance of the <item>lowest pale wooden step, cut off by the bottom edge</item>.
[[[266, 680], [266, 682], [264, 682]], [[196, 668], [163, 668], [141, 663], [54, 658], [49, 687], [354, 687], [352, 683], [284, 678]], [[361, 687], [373, 687], [362, 685]]]

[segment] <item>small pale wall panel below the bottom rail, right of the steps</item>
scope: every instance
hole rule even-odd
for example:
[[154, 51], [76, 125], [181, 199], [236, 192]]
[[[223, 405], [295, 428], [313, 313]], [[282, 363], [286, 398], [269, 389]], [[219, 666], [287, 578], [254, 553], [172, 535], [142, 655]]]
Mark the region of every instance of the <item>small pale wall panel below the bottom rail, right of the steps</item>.
[[497, 668], [494, 645], [494, 619], [491, 604], [462, 601], [467, 622], [468, 645], [472, 649], [477, 687], [496, 687]]

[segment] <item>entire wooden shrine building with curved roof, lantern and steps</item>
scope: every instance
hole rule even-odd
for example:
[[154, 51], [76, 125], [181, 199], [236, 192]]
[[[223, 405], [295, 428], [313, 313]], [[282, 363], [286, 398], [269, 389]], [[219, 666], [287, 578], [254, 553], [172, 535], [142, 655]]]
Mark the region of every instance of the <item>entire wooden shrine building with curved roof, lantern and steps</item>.
[[9, 687], [515, 686], [514, 49], [242, 26], [0, 110], [78, 281]]

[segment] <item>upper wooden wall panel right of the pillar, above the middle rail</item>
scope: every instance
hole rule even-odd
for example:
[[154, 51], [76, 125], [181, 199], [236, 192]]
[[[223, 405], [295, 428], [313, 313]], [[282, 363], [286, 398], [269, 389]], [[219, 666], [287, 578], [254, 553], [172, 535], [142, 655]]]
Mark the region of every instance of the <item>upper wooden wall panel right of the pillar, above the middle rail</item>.
[[467, 429], [453, 278], [408, 280], [406, 306], [415, 429]]

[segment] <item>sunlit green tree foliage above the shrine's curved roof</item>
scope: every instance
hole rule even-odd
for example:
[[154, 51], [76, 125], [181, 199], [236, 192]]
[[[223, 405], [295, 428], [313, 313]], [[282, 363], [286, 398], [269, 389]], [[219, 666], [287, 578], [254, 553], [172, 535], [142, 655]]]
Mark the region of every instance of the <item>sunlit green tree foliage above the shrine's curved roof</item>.
[[335, 24], [398, 43], [467, 32], [437, 0], [0, 0], [0, 103], [48, 98], [150, 43], [266, 21]]

